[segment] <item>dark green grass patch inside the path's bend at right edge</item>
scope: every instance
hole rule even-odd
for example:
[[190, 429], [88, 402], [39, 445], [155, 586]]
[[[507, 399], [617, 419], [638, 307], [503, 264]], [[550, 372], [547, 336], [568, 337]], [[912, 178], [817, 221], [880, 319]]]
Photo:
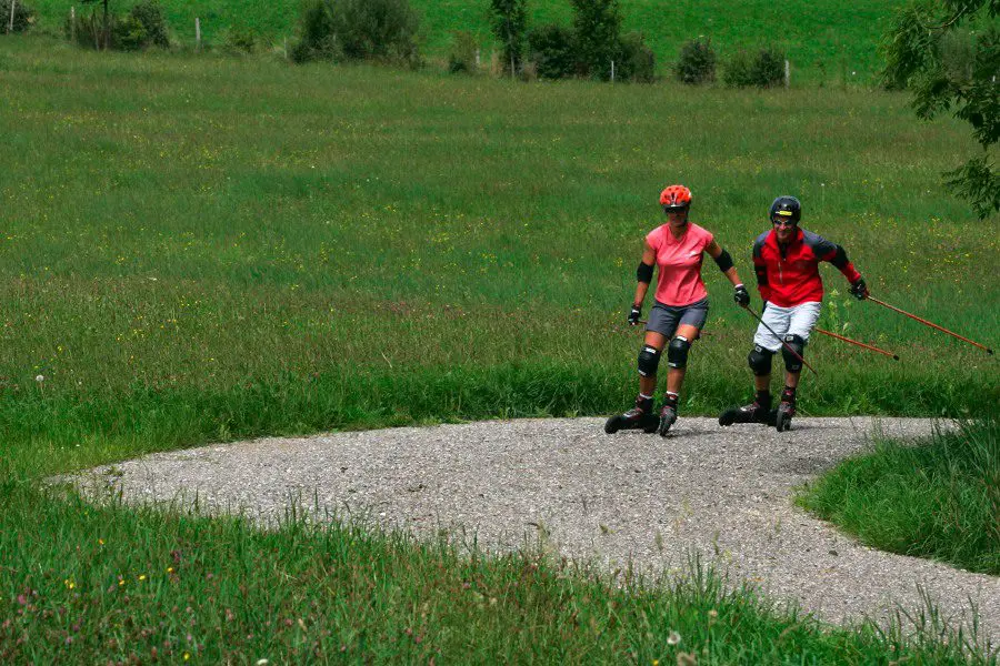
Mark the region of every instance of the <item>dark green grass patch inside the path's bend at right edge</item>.
[[799, 503], [883, 551], [1000, 574], [1000, 418], [914, 443], [879, 442]]

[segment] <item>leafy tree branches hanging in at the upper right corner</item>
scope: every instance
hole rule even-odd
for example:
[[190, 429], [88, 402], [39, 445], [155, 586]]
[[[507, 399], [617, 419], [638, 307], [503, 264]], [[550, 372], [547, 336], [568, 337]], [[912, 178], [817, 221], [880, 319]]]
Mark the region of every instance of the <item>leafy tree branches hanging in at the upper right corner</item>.
[[[1000, 174], [993, 163], [1000, 138], [998, 16], [1000, 0], [918, 0], [896, 14], [884, 46], [886, 83], [913, 92], [918, 117], [929, 120], [952, 111], [972, 125], [982, 153], [944, 175], [980, 219], [1000, 211]], [[946, 39], [970, 27], [971, 62], [949, 67]]]

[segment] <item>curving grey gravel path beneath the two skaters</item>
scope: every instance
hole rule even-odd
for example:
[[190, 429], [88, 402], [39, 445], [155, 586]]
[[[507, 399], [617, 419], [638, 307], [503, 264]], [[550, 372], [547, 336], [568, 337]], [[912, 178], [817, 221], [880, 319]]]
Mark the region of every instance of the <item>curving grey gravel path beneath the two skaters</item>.
[[606, 435], [602, 420], [491, 421], [156, 454], [96, 470], [130, 502], [193, 496], [210, 509], [280, 516], [290, 495], [419, 535], [476, 533], [480, 546], [538, 543], [608, 566], [682, 567], [691, 549], [798, 599], [831, 622], [921, 607], [924, 586], [952, 622], [979, 608], [1000, 637], [1000, 577], [857, 544], [793, 507], [792, 488], [874, 432], [930, 432], [924, 420], [798, 418], [778, 434], [681, 418], [663, 440]]

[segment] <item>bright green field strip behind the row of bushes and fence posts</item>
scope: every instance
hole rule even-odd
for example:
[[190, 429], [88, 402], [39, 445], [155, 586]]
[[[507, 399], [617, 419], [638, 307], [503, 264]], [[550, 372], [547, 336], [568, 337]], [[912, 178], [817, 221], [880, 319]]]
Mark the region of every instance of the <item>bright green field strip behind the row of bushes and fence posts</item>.
[[[194, 18], [201, 19], [208, 43], [218, 43], [230, 27], [250, 29], [274, 43], [293, 39], [298, 21], [298, 0], [240, 2], [220, 0], [161, 0], [177, 40], [194, 42]], [[62, 29], [73, 2], [31, 0], [40, 14], [40, 28]], [[452, 34], [467, 30], [478, 36], [484, 58], [494, 42], [489, 29], [488, 0], [411, 0], [421, 16], [422, 51], [428, 58], [448, 54]], [[621, 0], [623, 28], [640, 31], [657, 54], [666, 72], [677, 59], [681, 44], [698, 36], [712, 39], [721, 57], [741, 48], [778, 46], [786, 50], [797, 82], [871, 83], [882, 63], [878, 56], [881, 34], [888, 28], [896, 0], [876, 0], [860, 6], [836, 0], [783, 0], [782, 2], [731, 3], [722, 0], [698, 2], [681, 0], [664, 6], [652, 0]], [[76, 3], [77, 11], [84, 6]], [[124, 11], [129, 2], [112, 2]], [[569, 24], [572, 10], [566, 0], [534, 0], [529, 3], [533, 26], [549, 22]], [[89, 9], [88, 9], [89, 11]]]

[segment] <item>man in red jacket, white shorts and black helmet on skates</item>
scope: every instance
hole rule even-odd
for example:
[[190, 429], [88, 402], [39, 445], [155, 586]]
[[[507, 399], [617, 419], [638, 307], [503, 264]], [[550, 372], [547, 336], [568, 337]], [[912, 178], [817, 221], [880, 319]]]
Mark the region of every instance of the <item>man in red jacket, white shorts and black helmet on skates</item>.
[[776, 199], [771, 204], [770, 218], [773, 229], [753, 241], [753, 269], [757, 272], [757, 289], [764, 301], [761, 319], [781, 337], [776, 337], [763, 324], [757, 327], [753, 350], [748, 357], [754, 375], [756, 398], [749, 405], [723, 412], [719, 417], [721, 425], [768, 422], [771, 411], [771, 356], [779, 350], [784, 357], [786, 372], [784, 390], [778, 407], [778, 427], [782, 430], [782, 423], [790, 423], [802, 372], [801, 356], [822, 309], [823, 281], [819, 274], [819, 262], [828, 261], [837, 266], [851, 283], [850, 292], [854, 297], [868, 297], [864, 279], [848, 261], [843, 248], [817, 233], [799, 229], [802, 204], [798, 199]]

